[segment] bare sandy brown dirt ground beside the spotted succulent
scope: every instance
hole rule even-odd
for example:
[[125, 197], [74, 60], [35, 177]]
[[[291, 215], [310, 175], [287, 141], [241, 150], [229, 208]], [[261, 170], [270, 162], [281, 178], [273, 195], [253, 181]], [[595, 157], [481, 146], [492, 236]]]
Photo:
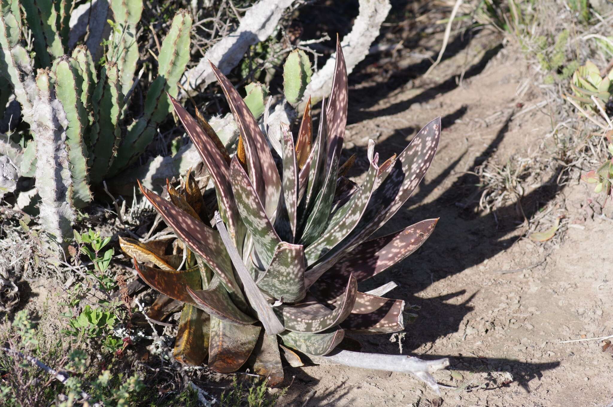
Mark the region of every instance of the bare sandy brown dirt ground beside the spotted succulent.
[[[555, 105], [543, 103], [546, 95], [524, 55], [502, 40], [482, 31], [427, 78], [416, 75], [398, 87], [385, 79], [354, 80], [349, 91], [343, 154], [358, 154], [355, 177], [364, 173], [369, 138], [387, 159], [430, 119], [443, 118], [432, 167], [384, 231], [440, 217], [435, 233], [362, 288], [391, 279], [399, 286], [390, 296], [421, 307], [406, 327], [403, 354], [451, 357], [451, 372], [436, 377], [457, 389], [443, 389], [438, 399], [405, 374], [310, 366], [292, 370], [284, 405], [606, 406], [613, 400], [613, 359], [600, 341], [559, 343], [613, 332], [607, 307], [613, 221], [601, 216], [611, 217], [611, 204], [603, 210], [576, 176], [558, 185], [560, 170], [543, 147]], [[395, 69], [409, 72], [421, 66], [416, 61], [408, 54]], [[513, 156], [545, 164], [522, 179], [520, 206], [511, 198], [496, 211], [479, 209], [482, 188], [470, 173]], [[563, 218], [555, 236], [539, 243], [526, 238], [524, 215], [538, 231]], [[366, 351], [399, 351], [397, 340], [354, 338]]]

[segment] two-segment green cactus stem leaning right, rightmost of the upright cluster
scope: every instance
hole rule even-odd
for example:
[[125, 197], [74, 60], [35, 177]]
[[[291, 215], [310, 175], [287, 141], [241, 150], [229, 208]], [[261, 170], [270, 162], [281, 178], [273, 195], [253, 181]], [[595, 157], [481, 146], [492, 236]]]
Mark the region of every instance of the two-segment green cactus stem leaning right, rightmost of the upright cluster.
[[162, 41], [158, 56], [158, 77], [147, 89], [143, 116], [129, 125], [121, 143], [110, 176], [134, 162], [158, 131], [159, 123], [171, 110], [166, 92], [177, 95], [177, 82], [189, 61], [189, 32], [192, 18], [186, 10], [179, 10], [172, 20], [170, 31]]

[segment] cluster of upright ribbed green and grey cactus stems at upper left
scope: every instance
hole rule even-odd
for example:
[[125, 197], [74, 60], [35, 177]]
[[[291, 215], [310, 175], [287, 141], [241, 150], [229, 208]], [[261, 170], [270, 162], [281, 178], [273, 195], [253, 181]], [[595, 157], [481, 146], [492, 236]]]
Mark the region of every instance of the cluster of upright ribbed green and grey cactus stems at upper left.
[[[143, 113], [132, 118], [128, 100], [139, 59], [136, 37], [143, 2], [109, 3], [112, 32], [104, 63], [94, 63], [85, 45], [67, 49], [75, 0], [0, 0], [0, 75], [12, 87], [21, 118], [31, 130], [20, 152], [20, 174], [36, 173], [41, 211], [54, 212], [53, 218], [60, 219], [53, 225], [41, 220], [61, 244], [70, 233], [72, 208], [93, 199], [90, 185], [126, 168], [153, 140], [172, 110], [165, 92], [177, 94], [177, 81], [189, 61], [192, 19], [180, 10], [162, 41], [158, 76], [147, 89]], [[34, 52], [26, 49], [26, 29], [31, 31]], [[5, 94], [2, 89], [0, 99]], [[51, 160], [50, 152], [61, 159]], [[58, 212], [58, 207], [66, 211]]]

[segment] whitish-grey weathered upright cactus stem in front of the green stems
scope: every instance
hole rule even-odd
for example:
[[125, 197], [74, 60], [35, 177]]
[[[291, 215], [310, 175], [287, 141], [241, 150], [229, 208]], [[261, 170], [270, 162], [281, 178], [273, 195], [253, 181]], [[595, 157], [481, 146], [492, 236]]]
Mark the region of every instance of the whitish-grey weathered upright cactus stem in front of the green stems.
[[56, 247], [63, 250], [72, 239], [72, 177], [66, 149], [68, 121], [64, 107], [50, 86], [50, 72], [40, 69], [34, 101], [32, 133], [37, 141], [36, 188], [40, 196], [40, 223]]

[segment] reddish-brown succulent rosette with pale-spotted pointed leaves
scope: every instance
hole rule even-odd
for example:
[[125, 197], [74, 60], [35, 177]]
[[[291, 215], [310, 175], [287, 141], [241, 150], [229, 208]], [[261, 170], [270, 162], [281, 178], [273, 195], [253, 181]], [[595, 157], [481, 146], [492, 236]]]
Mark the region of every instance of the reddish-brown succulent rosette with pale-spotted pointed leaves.
[[[218, 148], [210, 127], [170, 99], [210, 174], [216, 200], [203, 199], [191, 173], [180, 190], [168, 184], [170, 201], [141, 185], [178, 237], [175, 251], [166, 254], [168, 241], [120, 242], [140, 277], [164, 294], [152, 307], [156, 316], [167, 315], [161, 310], [169, 299], [175, 304], [170, 308], [183, 304], [175, 357], [199, 365], [208, 354], [209, 367], [224, 373], [253, 365], [274, 385], [283, 380], [281, 354], [299, 366], [299, 353], [329, 355], [345, 331], [402, 330], [405, 302], [383, 297], [395, 284], [362, 293], [358, 283], [406, 258], [435, 228], [438, 219], [429, 219], [368, 239], [400, 209], [430, 166], [440, 118], [381, 164], [370, 141], [362, 185], [349, 181], [343, 175], [346, 165], [339, 163], [348, 88], [337, 43], [332, 94], [322, 102], [318, 134], [313, 137], [307, 103], [295, 142], [282, 126], [280, 174], [254, 115], [223, 73], [212, 68], [240, 130], [233, 157]], [[418, 376], [436, 388], [428, 372]]]

